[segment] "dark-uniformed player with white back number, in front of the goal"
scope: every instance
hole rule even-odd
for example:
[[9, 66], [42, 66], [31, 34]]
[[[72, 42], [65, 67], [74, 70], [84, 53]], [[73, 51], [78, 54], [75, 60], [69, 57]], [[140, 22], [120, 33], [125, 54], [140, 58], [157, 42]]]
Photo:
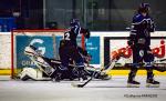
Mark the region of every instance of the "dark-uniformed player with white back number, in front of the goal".
[[76, 44], [76, 38], [80, 33], [83, 33], [85, 38], [90, 38], [90, 31], [81, 28], [77, 19], [72, 19], [69, 30], [64, 32], [63, 40], [60, 42], [59, 54], [62, 62], [60, 70], [62, 74], [65, 73], [69, 69], [70, 59], [73, 59], [79, 70], [79, 77], [82, 80], [87, 80], [83, 64], [84, 60], [79, 53], [79, 48]]

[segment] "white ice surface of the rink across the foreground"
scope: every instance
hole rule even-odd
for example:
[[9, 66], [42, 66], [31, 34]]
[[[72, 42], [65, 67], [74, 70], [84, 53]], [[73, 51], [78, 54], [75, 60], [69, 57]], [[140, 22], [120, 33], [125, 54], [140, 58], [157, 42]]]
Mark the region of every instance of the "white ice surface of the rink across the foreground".
[[146, 88], [145, 79], [137, 75], [139, 88], [126, 88], [125, 75], [114, 75], [108, 81], [93, 80], [84, 88], [73, 88], [72, 81], [18, 81], [0, 77], [0, 101], [165, 101], [166, 77], [156, 77], [159, 88]]

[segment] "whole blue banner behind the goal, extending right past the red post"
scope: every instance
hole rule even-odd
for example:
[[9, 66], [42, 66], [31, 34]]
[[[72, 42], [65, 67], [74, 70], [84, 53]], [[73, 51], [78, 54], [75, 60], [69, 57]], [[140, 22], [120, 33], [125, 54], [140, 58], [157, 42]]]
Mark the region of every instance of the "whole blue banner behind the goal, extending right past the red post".
[[[55, 37], [56, 51], [59, 50], [60, 40], [62, 37]], [[37, 47], [44, 57], [53, 58], [53, 38], [50, 36], [17, 36], [15, 37], [15, 54], [17, 54], [17, 68], [35, 67], [33, 62], [24, 54], [24, 49], [29, 44]], [[80, 46], [81, 38], [77, 39]], [[100, 37], [92, 37], [86, 40], [86, 50], [92, 55], [92, 64], [100, 64]], [[59, 53], [59, 52], [58, 52]]]

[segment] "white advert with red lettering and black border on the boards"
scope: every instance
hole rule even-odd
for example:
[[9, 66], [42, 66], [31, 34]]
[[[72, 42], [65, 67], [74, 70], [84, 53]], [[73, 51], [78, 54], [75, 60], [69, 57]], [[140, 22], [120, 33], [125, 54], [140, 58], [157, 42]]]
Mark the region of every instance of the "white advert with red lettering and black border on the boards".
[[[166, 38], [164, 37], [152, 37], [151, 49], [153, 54], [155, 55], [155, 60], [160, 60], [166, 58]], [[125, 63], [132, 63], [133, 54], [132, 49], [127, 44], [126, 37], [116, 37], [116, 38], [105, 38], [105, 44], [107, 44], [107, 50], [105, 50], [105, 62], [108, 62], [116, 54], [121, 54], [122, 57], [116, 62], [114, 69], [128, 69], [124, 67]], [[105, 48], [106, 49], [106, 48]]]

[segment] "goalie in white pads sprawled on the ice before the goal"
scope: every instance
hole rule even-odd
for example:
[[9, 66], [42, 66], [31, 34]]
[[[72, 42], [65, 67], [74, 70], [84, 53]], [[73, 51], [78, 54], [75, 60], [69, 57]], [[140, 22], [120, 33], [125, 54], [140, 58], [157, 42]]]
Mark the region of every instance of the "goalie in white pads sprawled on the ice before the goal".
[[[86, 70], [90, 72], [90, 75], [95, 72], [95, 79], [101, 79], [101, 80], [108, 80], [111, 79], [110, 75], [106, 74], [106, 72], [98, 72], [100, 69], [96, 69], [92, 65], [89, 64], [91, 61], [91, 55], [86, 53], [86, 51], [82, 50], [81, 48], [79, 49], [80, 52], [82, 53], [82, 57], [84, 57], [84, 64], [86, 65]], [[43, 54], [40, 53], [38, 48], [34, 46], [29, 46], [24, 49], [24, 54], [30, 58], [32, 62], [37, 65], [37, 68], [32, 67], [25, 67], [19, 73], [19, 78], [23, 81], [25, 80], [55, 80], [55, 78], [59, 78], [59, 68], [61, 65], [60, 60], [55, 59], [49, 59], [45, 58]], [[63, 79], [69, 79], [69, 80], [74, 80], [79, 79], [77, 75], [77, 70], [75, 64], [71, 62], [69, 64], [69, 71], [63, 73], [61, 75], [61, 80]], [[56, 80], [55, 80], [56, 81]]]

